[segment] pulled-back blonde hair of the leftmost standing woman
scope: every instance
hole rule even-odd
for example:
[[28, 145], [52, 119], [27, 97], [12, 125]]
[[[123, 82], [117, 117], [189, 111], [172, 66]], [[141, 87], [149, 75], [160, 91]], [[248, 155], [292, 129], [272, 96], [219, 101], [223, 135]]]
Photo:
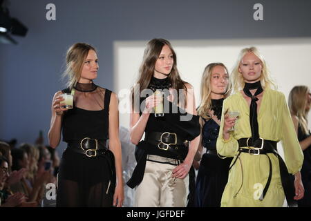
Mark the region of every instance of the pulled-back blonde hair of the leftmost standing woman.
[[88, 52], [95, 48], [86, 43], [76, 43], [71, 46], [66, 53], [66, 70], [63, 77], [68, 77], [66, 86], [70, 89], [77, 84], [82, 73], [82, 68]]

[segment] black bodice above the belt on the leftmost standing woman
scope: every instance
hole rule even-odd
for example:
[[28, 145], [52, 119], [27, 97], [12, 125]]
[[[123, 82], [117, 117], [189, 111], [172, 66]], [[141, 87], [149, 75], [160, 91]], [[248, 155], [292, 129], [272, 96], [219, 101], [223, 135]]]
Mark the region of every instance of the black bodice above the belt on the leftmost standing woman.
[[[70, 89], [66, 88], [62, 92], [70, 93]], [[63, 117], [63, 141], [80, 140], [84, 137], [107, 140], [109, 138], [110, 97], [111, 90], [105, 89], [104, 109], [100, 111], [84, 110], [73, 104], [73, 109], [66, 111]]]

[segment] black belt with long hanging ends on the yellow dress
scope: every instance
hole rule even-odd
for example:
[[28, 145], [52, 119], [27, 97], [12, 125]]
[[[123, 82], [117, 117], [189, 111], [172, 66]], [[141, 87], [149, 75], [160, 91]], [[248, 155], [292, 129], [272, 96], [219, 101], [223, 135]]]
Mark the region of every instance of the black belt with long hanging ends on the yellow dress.
[[[292, 177], [288, 173], [288, 168], [286, 167], [285, 162], [283, 161], [282, 157], [279, 155], [277, 151], [277, 148], [276, 148], [277, 142], [272, 141], [272, 140], [264, 140], [261, 137], [253, 141], [252, 137], [249, 137], [249, 138], [241, 138], [240, 140], [238, 140], [238, 146], [239, 146], [239, 150], [238, 150], [239, 153], [236, 157], [236, 160], [238, 159], [238, 156], [241, 153], [249, 153], [250, 155], [260, 155], [260, 154], [267, 155], [267, 153], [273, 153], [274, 155], [276, 155], [276, 157], [278, 157], [281, 182], [282, 182], [286, 200], [290, 207], [296, 206], [296, 201], [293, 199], [295, 195], [295, 191], [294, 191], [294, 184], [292, 183]], [[269, 155], [267, 155], [267, 157], [269, 160], [270, 171], [269, 171], [269, 176], [267, 179], [267, 184], [265, 184], [265, 188], [263, 189], [263, 193], [261, 197], [259, 198], [259, 200], [263, 200], [263, 198], [265, 198], [265, 194], [267, 193], [267, 190], [269, 189], [270, 182], [272, 179], [272, 162], [271, 162]], [[236, 163], [236, 160], [234, 161], [232, 166]], [[232, 166], [230, 166], [229, 169], [231, 169]]]

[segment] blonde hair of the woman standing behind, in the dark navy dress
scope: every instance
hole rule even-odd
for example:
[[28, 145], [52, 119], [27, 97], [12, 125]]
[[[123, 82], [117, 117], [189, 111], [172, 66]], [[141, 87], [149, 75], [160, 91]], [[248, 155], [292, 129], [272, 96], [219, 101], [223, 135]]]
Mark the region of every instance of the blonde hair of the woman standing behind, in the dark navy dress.
[[[211, 63], [205, 67], [205, 70], [202, 74], [201, 79], [201, 104], [198, 107], [198, 115], [203, 117], [204, 119], [210, 119], [211, 116], [209, 115], [209, 110], [211, 109], [211, 73], [213, 68], [216, 66], [222, 66], [227, 71], [229, 76], [228, 70], [223, 63]], [[227, 90], [224, 93], [224, 97], [228, 97], [231, 92], [231, 81], [228, 82]]]

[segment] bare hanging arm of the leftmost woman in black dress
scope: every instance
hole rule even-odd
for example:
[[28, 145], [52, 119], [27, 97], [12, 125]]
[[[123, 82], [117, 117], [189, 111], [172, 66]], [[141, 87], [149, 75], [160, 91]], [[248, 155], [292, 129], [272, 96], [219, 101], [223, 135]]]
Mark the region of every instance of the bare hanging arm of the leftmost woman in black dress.
[[117, 175], [117, 186], [113, 195], [113, 205], [121, 207], [124, 200], [122, 179], [122, 153], [119, 139], [119, 111], [117, 109], [117, 95], [111, 93], [109, 104], [109, 149], [115, 156], [115, 173]]

